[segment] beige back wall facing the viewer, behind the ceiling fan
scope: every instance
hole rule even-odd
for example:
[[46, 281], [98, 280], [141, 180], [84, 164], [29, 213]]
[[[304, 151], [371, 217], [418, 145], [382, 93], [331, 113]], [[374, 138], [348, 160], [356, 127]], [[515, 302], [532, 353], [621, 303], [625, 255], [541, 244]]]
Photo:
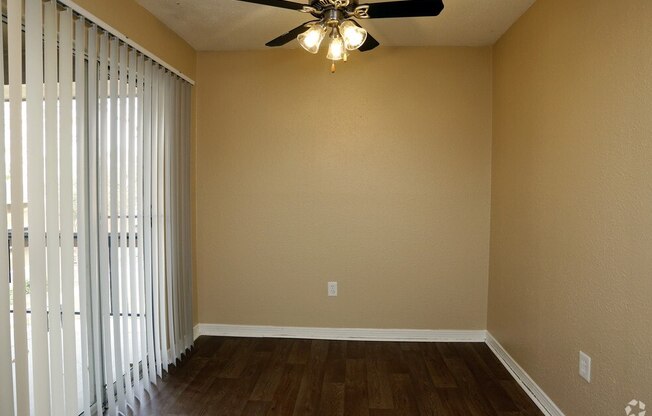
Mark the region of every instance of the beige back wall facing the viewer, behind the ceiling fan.
[[329, 66], [198, 54], [199, 322], [484, 329], [490, 48]]

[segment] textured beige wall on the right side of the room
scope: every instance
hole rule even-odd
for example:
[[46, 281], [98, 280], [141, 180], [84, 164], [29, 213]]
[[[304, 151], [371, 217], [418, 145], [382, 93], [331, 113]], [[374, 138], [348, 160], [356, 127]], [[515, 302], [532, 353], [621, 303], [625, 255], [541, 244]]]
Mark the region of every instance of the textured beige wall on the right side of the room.
[[651, 22], [544, 0], [494, 47], [488, 328], [569, 416], [652, 404]]

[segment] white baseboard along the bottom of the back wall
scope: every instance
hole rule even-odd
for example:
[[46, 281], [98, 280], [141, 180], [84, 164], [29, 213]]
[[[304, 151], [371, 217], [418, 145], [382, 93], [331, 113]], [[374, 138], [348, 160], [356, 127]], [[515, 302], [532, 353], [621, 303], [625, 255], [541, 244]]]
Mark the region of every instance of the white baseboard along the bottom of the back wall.
[[200, 335], [252, 338], [304, 338], [349, 341], [484, 342], [485, 330], [307, 328], [256, 325], [197, 324]]

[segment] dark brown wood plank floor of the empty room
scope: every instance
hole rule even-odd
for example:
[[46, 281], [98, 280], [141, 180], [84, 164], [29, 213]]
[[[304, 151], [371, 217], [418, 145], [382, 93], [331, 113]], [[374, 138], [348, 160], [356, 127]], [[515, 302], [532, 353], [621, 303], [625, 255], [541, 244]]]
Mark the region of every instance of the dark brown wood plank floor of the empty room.
[[199, 337], [138, 415], [542, 415], [483, 343]]

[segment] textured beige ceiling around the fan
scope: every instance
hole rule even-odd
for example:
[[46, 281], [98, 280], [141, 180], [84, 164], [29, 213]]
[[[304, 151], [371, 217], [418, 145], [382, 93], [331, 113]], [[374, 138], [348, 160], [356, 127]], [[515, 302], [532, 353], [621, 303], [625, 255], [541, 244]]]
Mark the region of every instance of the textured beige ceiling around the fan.
[[[312, 19], [297, 11], [236, 0], [137, 2], [200, 51], [264, 49], [267, 41]], [[444, 11], [438, 17], [360, 22], [382, 46], [482, 46], [496, 42], [533, 3], [444, 0]], [[298, 44], [290, 42], [287, 47]]]

